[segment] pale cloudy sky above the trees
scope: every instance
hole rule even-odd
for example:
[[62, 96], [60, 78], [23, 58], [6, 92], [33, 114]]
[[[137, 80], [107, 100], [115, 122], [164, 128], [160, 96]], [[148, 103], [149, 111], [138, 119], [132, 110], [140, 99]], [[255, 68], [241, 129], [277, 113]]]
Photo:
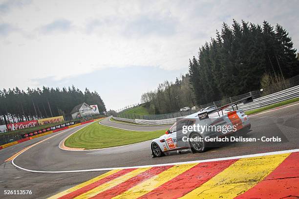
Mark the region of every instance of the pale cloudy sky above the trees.
[[299, 48], [298, 0], [0, 0], [0, 89], [73, 84], [122, 108], [233, 19], [279, 23]]

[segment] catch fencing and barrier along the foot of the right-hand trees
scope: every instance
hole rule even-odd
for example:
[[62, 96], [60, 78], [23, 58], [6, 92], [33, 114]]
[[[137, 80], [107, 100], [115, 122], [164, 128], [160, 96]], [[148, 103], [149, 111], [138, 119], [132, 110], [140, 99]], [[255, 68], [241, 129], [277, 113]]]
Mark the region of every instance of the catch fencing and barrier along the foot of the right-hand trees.
[[[285, 80], [283, 82], [282, 87], [289, 87], [287, 89], [284, 89], [282, 91], [277, 91], [278, 85], [272, 85], [267, 87], [266, 89], [261, 89], [257, 91], [252, 91], [243, 95], [230, 97], [228, 99], [214, 101], [209, 104], [203, 104], [199, 107], [196, 107], [195, 110], [189, 110], [186, 112], [175, 112], [170, 114], [160, 114], [160, 115], [147, 115], [147, 116], [141, 116], [137, 114], [118, 114], [118, 117], [113, 117], [113, 119], [121, 120], [121, 121], [128, 121], [136, 124], [150, 124], [150, 125], [161, 125], [161, 124], [173, 124], [175, 122], [175, 119], [182, 118], [188, 115], [191, 115], [193, 113], [198, 112], [199, 110], [205, 109], [209, 106], [214, 107], [221, 107], [226, 104], [232, 103], [237, 100], [241, 100], [247, 97], [253, 97], [253, 102], [248, 104], [239, 104], [238, 108], [242, 109], [244, 111], [260, 108], [263, 106], [267, 106], [273, 103], [277, 103], [284, 100], [290, 100], [293, 98], [299, 97], [299, 76], [295, 76], [292, 79]], [[281, 86], [281, 84], [279, 84]], [[291, 87], [292, 86], [292, 87]], [[265, 95], [268, 94], [268, 95]], [[265, 95], [265, 96], [263, 96]]]

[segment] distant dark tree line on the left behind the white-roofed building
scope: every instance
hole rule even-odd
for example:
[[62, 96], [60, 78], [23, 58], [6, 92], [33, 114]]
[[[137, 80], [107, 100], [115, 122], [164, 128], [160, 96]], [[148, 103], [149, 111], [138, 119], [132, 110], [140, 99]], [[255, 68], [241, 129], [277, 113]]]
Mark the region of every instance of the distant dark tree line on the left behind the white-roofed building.
[[97, 104], [99, 111], [106, 111], [100, 95], [87, 88], [83, 93], [78, 88], [27, 88], [18, 87], [0, 90], [0, 124], [14, 123], [32, 119], [42, 119], [63, 115], [70, 118], [71, 110], [78, 104]]

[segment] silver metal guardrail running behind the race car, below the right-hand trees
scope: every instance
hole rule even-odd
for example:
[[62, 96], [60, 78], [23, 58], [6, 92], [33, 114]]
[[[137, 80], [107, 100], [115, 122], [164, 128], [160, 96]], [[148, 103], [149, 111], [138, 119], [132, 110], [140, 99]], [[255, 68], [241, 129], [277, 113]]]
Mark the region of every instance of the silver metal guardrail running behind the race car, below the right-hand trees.
[[[244, 97], [249, 97], [250, 95], [252, 95], [254, 97], [254, 94], [251, 92], [244, 94]], [[299, 97], [299, 85], [279, 91], [274, 94], [256, 98], [256, 99], [254, 99], [253, 102], [250, 102], [248, 104], [240, 104], [240, 105], [238, 105], [238, 109], [247, 111], [247, 110], [260, 108], [260, 107], [267, 106], [267, 105], [270, 105], [273, 103], [277, 103], [277, 102], [284, 101], [284, 100], [290, 100], [290, 99], [298, 98], [298, 97]], [[219, 106], [219, 105], [225, 105], [225, 104], [219, 103], [219, 104], [216, 104], [216, 106], [217, 105]], [[190, 113], [190, 114], [192, 114], [192, 113]], [[163, 125], [163, 124], [173, 124], [176, 121], [176, 119], [184, 118], [184, 117], [185, 116], [173, 117], [170, 119], [150, 119], [150, 120], [149, 119], [126, 119], [126, 118], [117, 118], [117, 117], [113, 117], [113, 119], [121, 120], [121, 121], [128, 121], [128, 122], [132, 122], [132, 123], [136, 123], [136, 124]]]

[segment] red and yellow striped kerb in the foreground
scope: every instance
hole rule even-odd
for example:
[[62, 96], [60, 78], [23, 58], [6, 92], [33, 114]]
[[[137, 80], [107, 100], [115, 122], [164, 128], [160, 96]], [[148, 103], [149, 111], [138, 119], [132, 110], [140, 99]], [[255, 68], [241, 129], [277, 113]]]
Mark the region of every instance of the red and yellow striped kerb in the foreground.
[[299, 152], [116, 169], [50, 199], [298, 198]]

